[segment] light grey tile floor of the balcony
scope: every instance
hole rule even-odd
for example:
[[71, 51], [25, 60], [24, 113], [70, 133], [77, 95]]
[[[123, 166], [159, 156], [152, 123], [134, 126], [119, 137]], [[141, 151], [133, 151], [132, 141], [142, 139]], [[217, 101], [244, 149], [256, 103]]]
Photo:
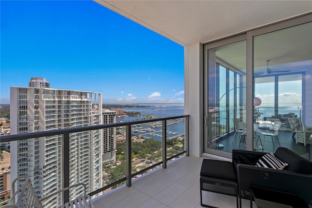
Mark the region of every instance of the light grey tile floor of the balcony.
[[[181, 157], [93, 200], [96, 208], [200, 208], [199, 174], [203, 158]], [[236, 208], [232, 196], [203, 191], [203, 203]], [[242, 207], [250, 207], [242, 200]], [[255, 207], [255, 206], [254, 206]]]

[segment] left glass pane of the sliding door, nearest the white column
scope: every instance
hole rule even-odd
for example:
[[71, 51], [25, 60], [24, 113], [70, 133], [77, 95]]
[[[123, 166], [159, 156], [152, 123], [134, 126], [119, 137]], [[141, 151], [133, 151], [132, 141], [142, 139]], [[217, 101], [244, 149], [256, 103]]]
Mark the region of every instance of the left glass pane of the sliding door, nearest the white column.
[[246, 149], [243, 132], [234, 138], [234, 119], [246, 129], [246, 41], [205, 45], [204, 50], [205, 148], [232, 152], [241, 139]]

